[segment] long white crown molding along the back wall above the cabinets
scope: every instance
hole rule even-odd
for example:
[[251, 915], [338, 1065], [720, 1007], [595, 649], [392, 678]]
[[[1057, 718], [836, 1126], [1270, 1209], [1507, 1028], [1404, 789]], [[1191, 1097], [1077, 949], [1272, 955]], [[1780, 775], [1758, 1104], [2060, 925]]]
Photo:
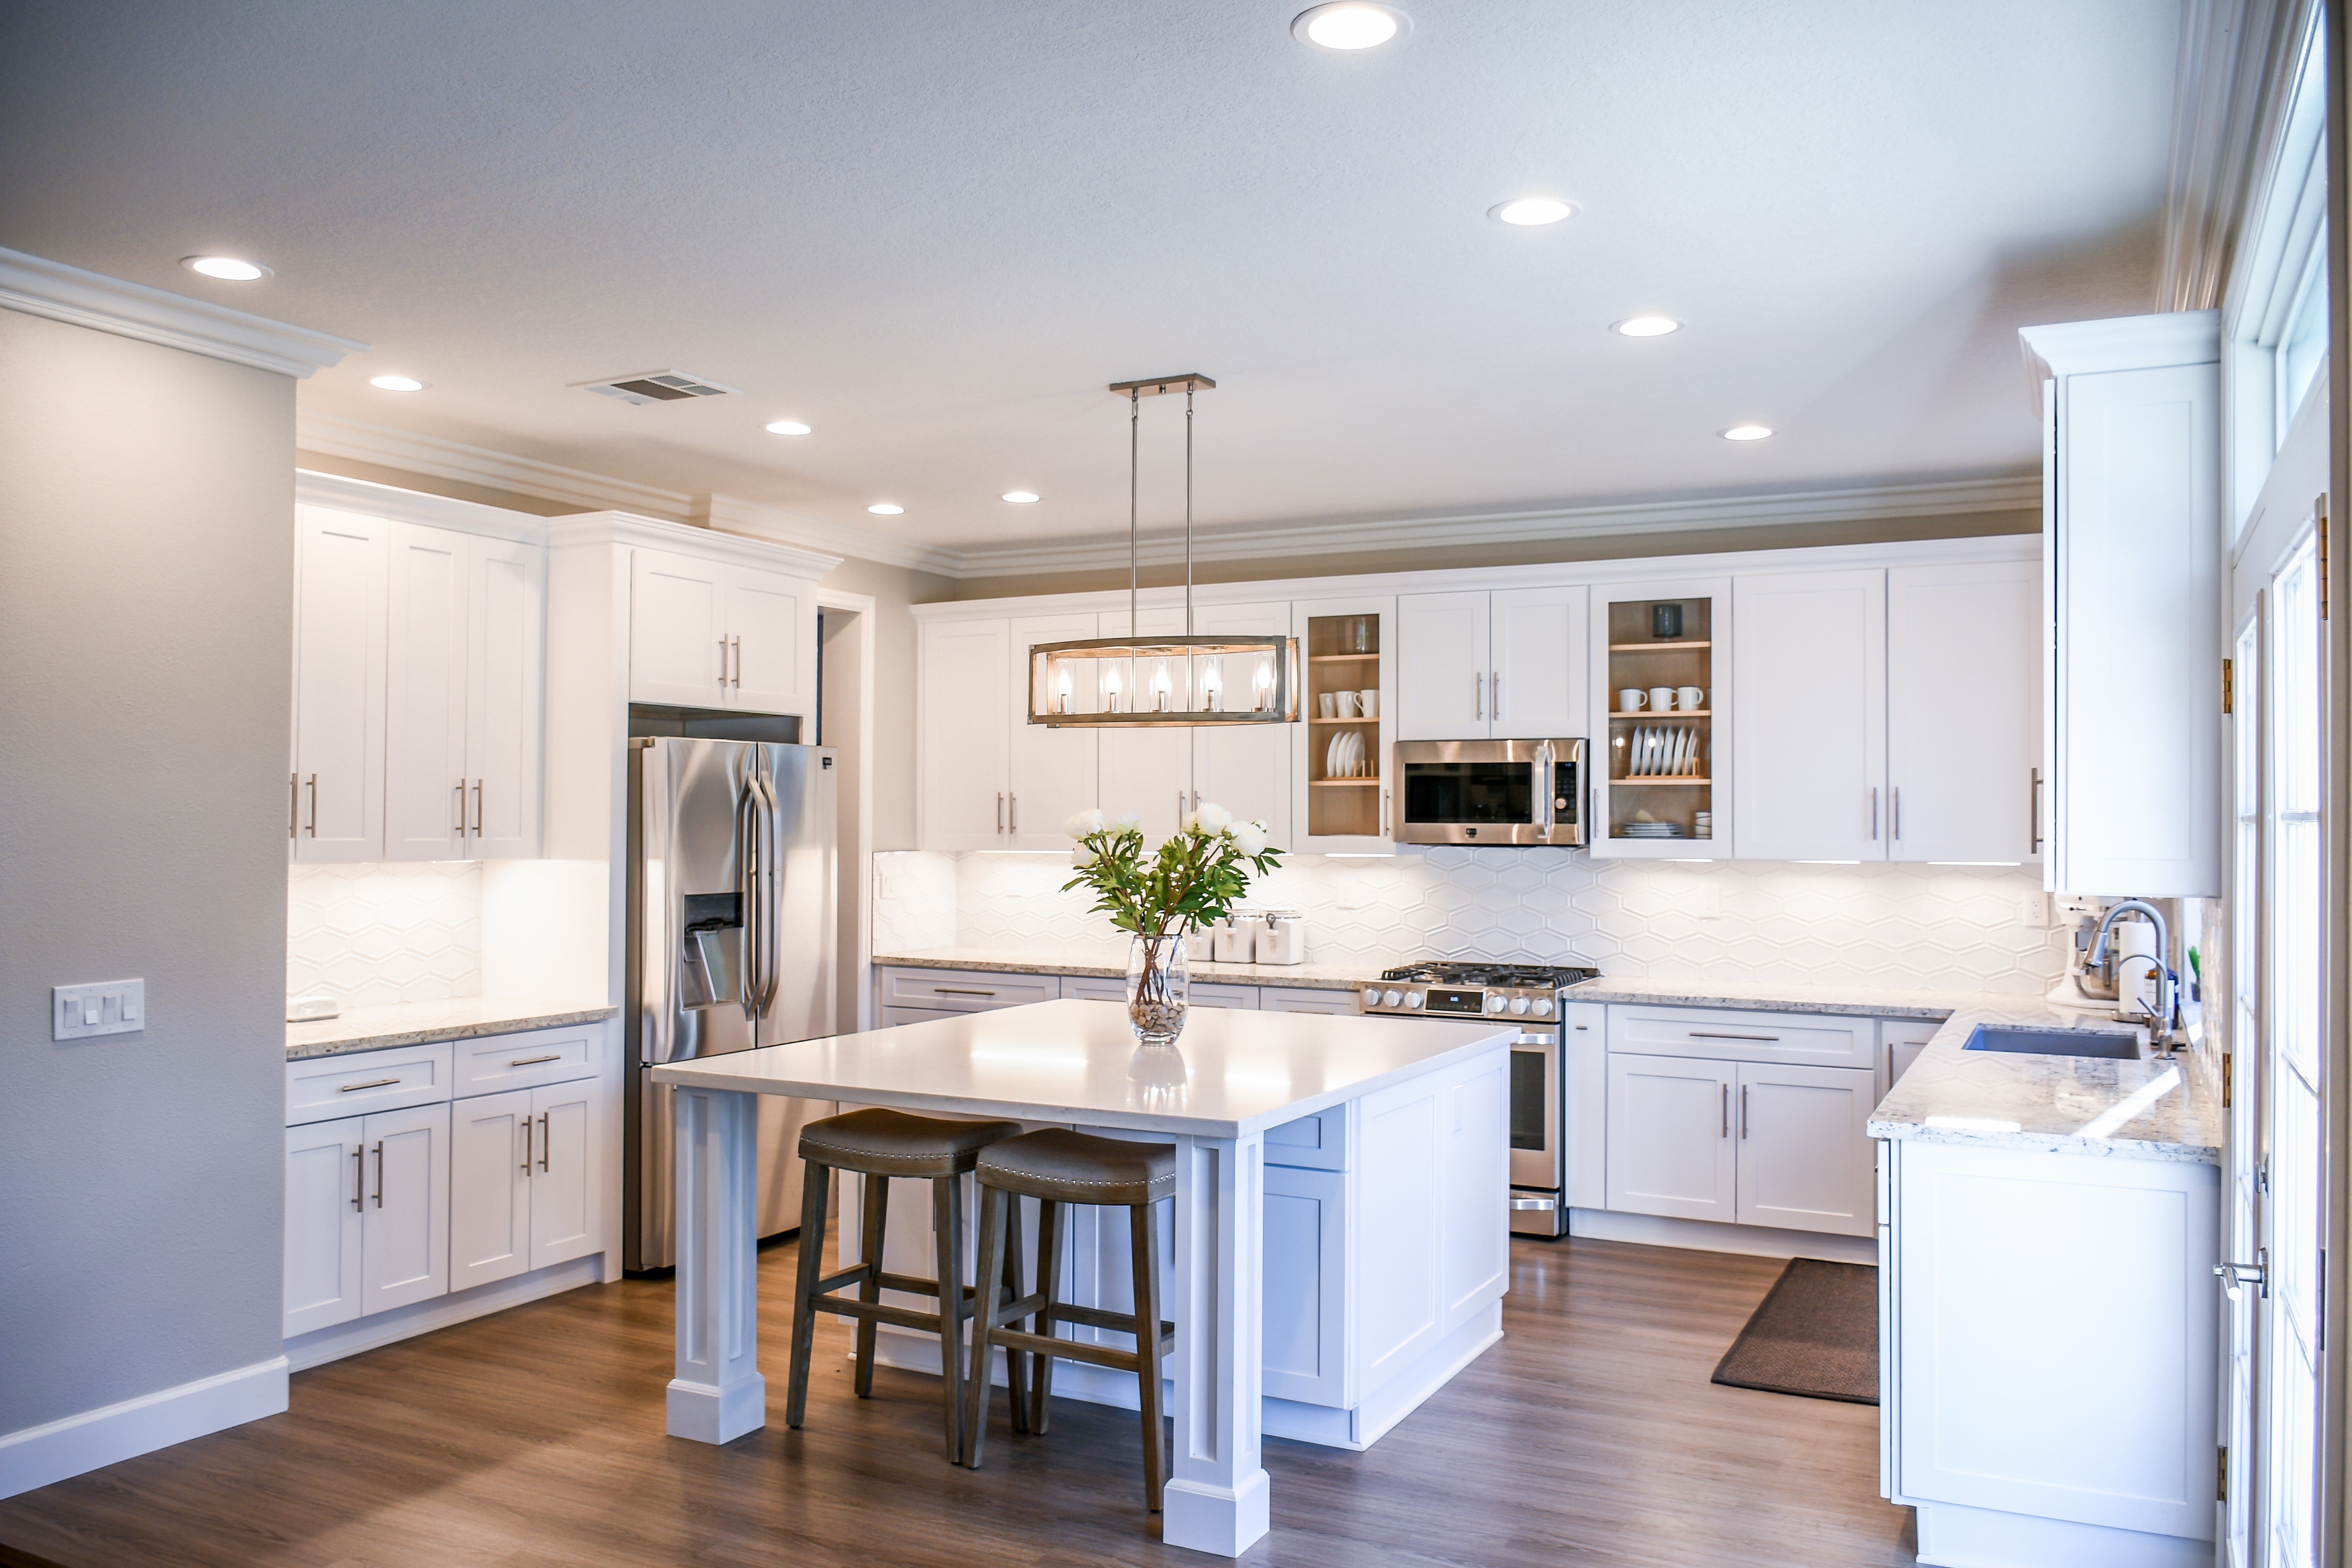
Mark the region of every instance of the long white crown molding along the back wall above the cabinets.
[[[1867, 484], [1748, 496], [1698, 496], [1684, 501], [1621, 501], [1569, 505], [1541, 512], [1458, 512], [1395, 517], [1385, 522], [1310, 522], [1284, 529], [1195, 534], [1195, 562], [1240, 562], [1287, 555], [1336, 555], [1364, 550], [1428, 550], [1432, 545], [1498, 545], [1545, 538], [1597, 538], [1611, 534], [1686, 534], [1773, 522], [1842, 522], [1858, 517], [1947, 517], [1955, 512], [2018, 512], [2042, 505], [2034, 475], [1983, 480], [1929, 480], [1917, 484]], [[1141, 541], [1136, 555], [1167, 567], [1183, 562], [1183, 536]], [[1127, 564], [1124, 538], [1004, 545], [957, 550], [957, 574], [1033, 576]]]

